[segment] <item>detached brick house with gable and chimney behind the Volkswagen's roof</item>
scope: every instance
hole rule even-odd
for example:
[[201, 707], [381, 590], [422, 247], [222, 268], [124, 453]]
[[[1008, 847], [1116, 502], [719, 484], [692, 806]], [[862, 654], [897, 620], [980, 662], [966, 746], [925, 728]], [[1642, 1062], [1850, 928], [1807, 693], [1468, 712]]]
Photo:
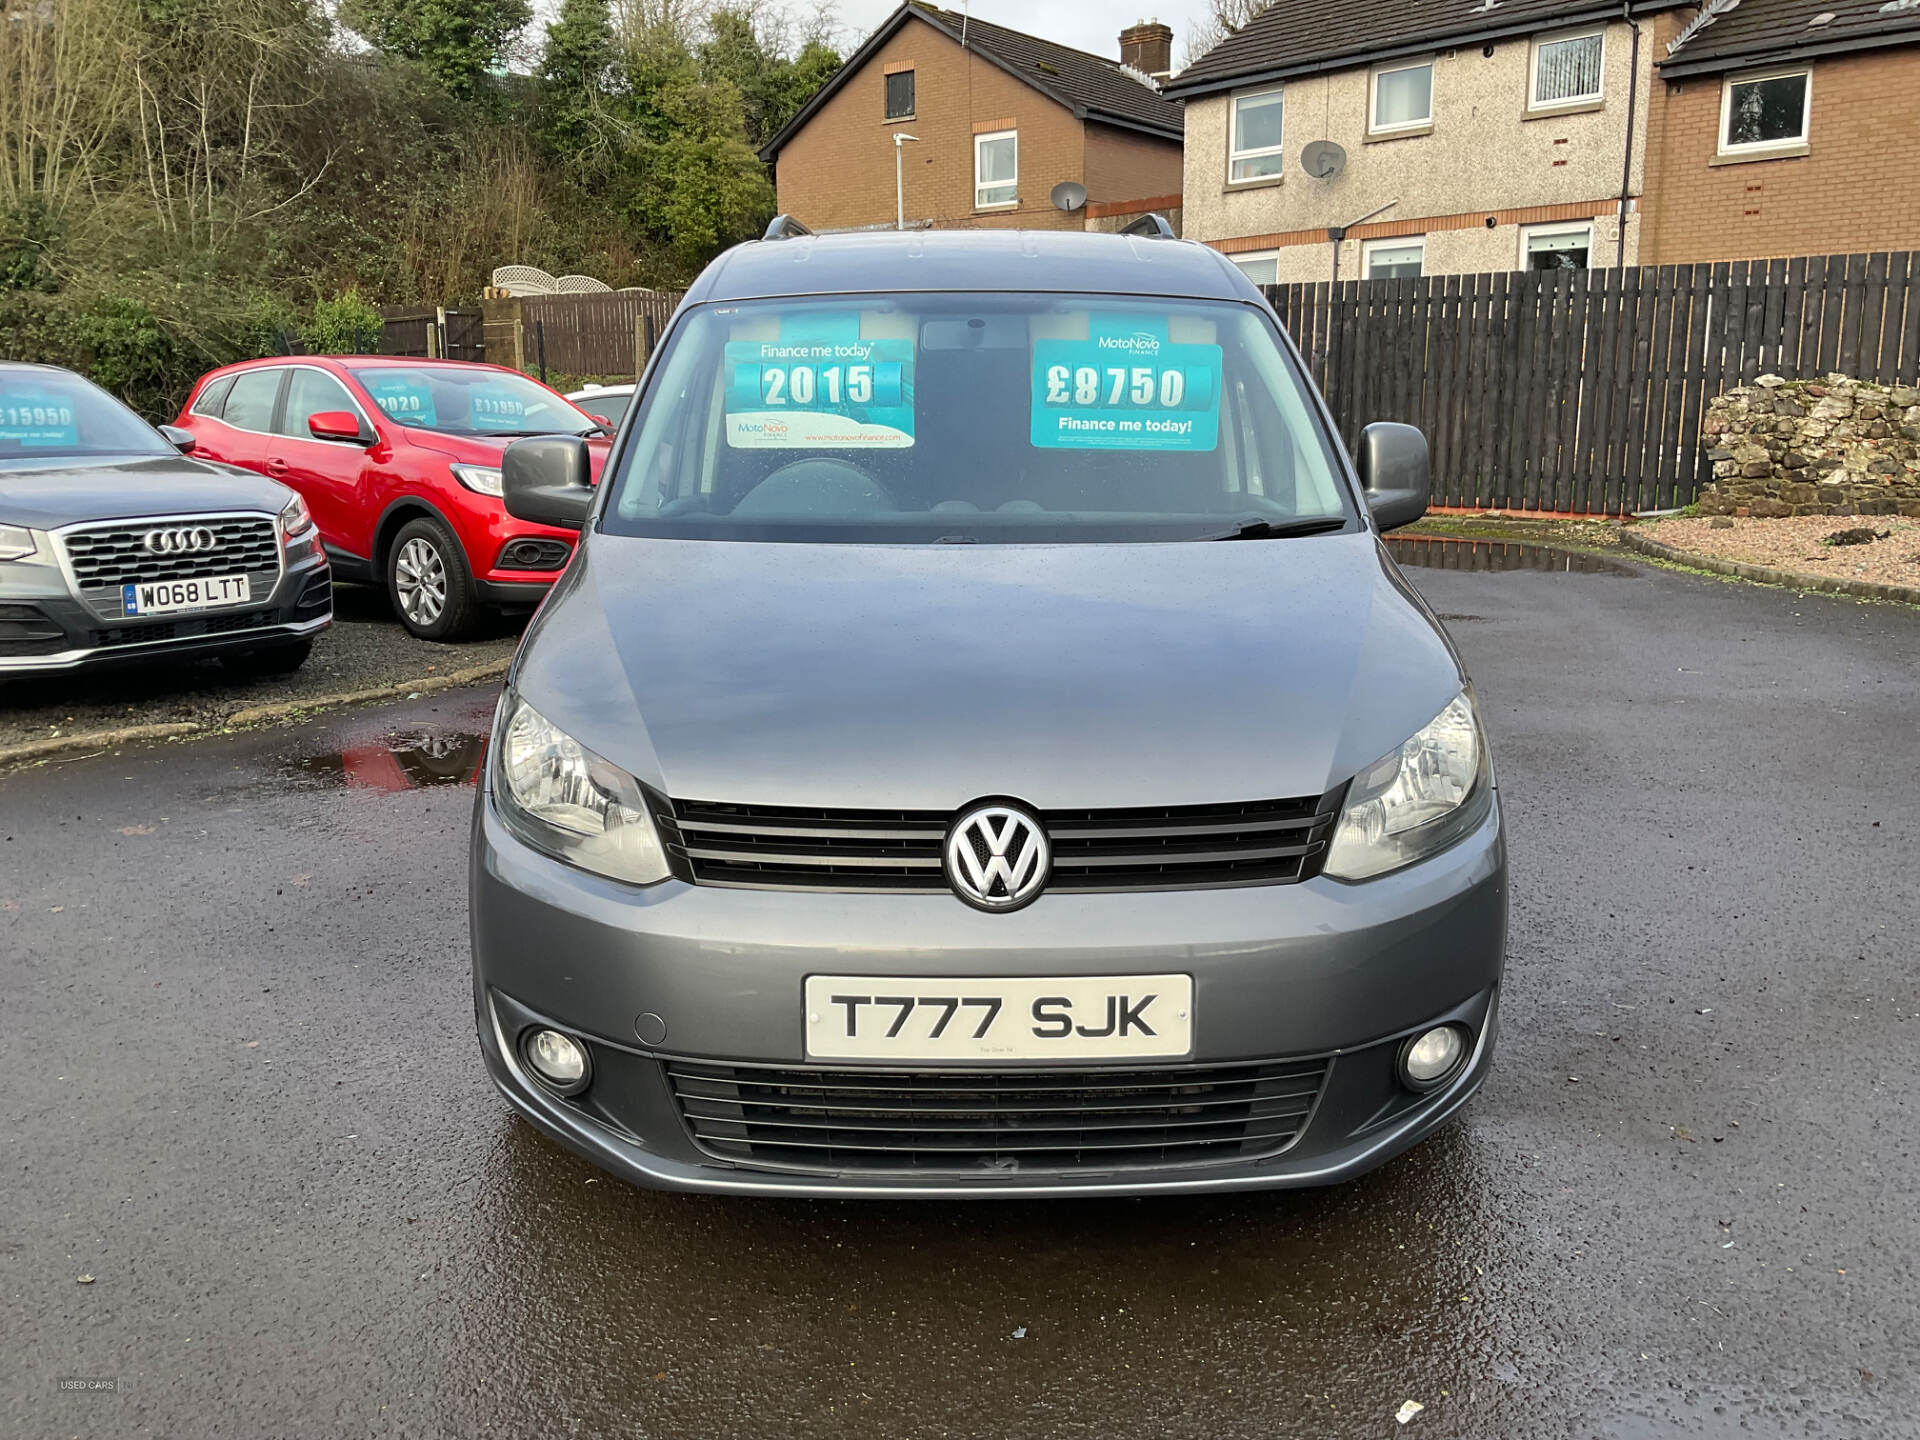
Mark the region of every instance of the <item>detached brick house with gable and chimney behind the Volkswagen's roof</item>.
[[[1106, 60], [908, 0], [760, 157], [816, 230], [893, 225], [897, 150], [910, 227], [1104, 228], [1179, 207], [1181, 106], [1154, 79], [1171, 52], [1158, 23]], [[1083, 209], [1052, 205], [1062, 180], [1087, 186]]]

